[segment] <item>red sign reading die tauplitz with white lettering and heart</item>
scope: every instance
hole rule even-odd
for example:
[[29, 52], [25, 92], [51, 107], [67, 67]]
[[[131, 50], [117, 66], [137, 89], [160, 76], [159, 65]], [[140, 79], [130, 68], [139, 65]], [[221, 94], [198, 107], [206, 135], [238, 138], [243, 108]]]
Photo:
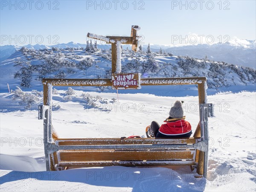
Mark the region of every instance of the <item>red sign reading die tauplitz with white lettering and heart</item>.
[[140, 73], [112, 73], [112, 89], [140, 89]]

